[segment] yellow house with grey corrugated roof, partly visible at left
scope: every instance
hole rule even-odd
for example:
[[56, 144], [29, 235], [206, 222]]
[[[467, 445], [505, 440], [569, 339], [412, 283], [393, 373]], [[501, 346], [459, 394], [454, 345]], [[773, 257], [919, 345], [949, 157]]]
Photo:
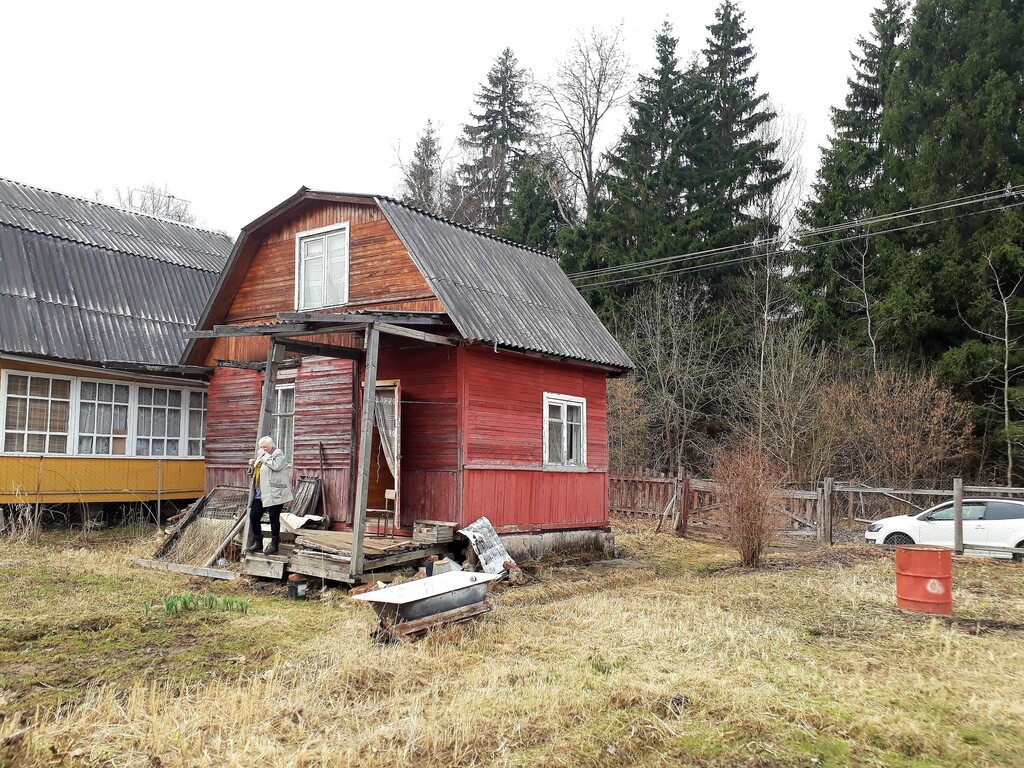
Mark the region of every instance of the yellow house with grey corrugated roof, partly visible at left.
[[203, 494], [178, 365], [230, 239], [0, 179], [0, 505]]

